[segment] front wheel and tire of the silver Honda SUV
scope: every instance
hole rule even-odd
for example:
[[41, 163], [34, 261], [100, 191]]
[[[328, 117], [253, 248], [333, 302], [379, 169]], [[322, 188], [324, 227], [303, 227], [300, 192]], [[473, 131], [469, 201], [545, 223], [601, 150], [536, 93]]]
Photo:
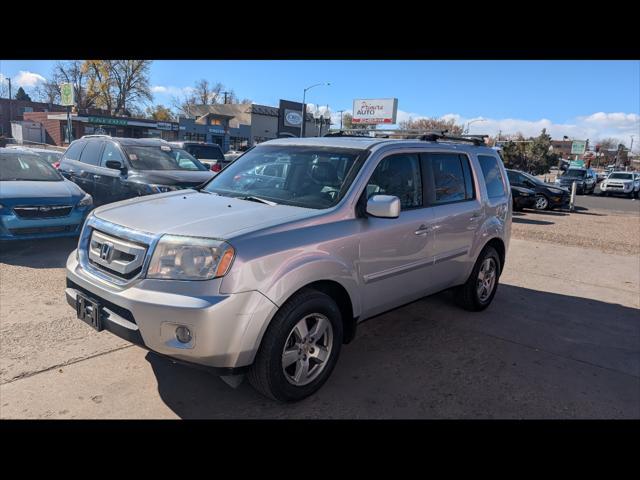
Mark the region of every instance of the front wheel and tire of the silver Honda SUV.
[[342, 346], [342, 316], [328, 295], [303, 289], [278, 310], [248, 373], [251, 385], [281, 402], [302, 400], [331, 375]]

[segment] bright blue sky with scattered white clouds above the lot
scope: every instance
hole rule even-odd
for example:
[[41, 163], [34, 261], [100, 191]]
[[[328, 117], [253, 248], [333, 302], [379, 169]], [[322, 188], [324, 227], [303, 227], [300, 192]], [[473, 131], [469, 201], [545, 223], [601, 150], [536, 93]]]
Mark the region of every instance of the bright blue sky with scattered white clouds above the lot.
[[[53, 63], [0, 60], [0, 74], [33, 83], [37, 77], [20, 72], [48, 77]], [[354, 98], [398, 97], [401, 119], [484, 119], [472, 133], [546, 127], [555, 136], [616, 136], [627, 144], [635, 135], [640, 144], [638, 61], [155, 61], [155, 102], [169, 104], [171, 93], [201, 78], [266, 105], [301, 100], [304, 87], [328, 81], [308, 93], [309, 103], [350, 110]]]

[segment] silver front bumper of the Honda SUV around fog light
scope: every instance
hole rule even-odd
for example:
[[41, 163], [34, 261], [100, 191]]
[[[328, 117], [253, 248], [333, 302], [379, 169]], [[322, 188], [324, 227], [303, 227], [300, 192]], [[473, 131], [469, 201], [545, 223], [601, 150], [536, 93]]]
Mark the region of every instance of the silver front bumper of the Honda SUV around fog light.
[[[177, 361], [239, 373], [253, 359], [277, 306], [258, 291], [219, 295], [216, 280], [187, 282], [140, 279], [126, 288], [111, 285], [67, 260], [67, 302], [81, 293], [102, 308], [105, 330]], [[176, 339], [186, 326], [192, 340]]]

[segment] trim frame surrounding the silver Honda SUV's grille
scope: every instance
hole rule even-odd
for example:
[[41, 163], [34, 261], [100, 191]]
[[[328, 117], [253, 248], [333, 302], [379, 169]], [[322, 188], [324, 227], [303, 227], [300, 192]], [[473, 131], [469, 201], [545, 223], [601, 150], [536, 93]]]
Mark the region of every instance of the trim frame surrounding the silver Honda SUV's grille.
[[[125, 243], [130, 242], [138, 244], [138, 247], [140, 247], [140, 245], [145, 245], [146, 251], [143, 256], [140, 272], [132, 278], [123, 278], [98, 268], [89, 257], [91, 237], [96, 231], [108, 237], [124, 241]], [[84, 224], [82, 233], [80, 234], [80, 240], [78, 241], [78, 263], [80, 263], [83, 270], [93, 277], [111, 285], [125, 287], [141, 278], [144, 278], [147, 273], [147, 269], [149, 268], [151, 255], [153, 254], [159, 239], [159, 235], [132, 230], [130, 228], [123, 227], [122, 225], [101, 220], [95, 215], [90, 215]]]

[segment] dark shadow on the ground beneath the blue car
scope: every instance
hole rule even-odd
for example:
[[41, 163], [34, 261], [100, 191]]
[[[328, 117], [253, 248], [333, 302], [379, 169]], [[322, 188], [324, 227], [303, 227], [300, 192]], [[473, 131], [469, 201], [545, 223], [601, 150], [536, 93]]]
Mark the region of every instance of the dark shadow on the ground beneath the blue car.
[[61, 268], [78, 245], [78, 237], [0, 243], [0, 263], [29, 268]]

